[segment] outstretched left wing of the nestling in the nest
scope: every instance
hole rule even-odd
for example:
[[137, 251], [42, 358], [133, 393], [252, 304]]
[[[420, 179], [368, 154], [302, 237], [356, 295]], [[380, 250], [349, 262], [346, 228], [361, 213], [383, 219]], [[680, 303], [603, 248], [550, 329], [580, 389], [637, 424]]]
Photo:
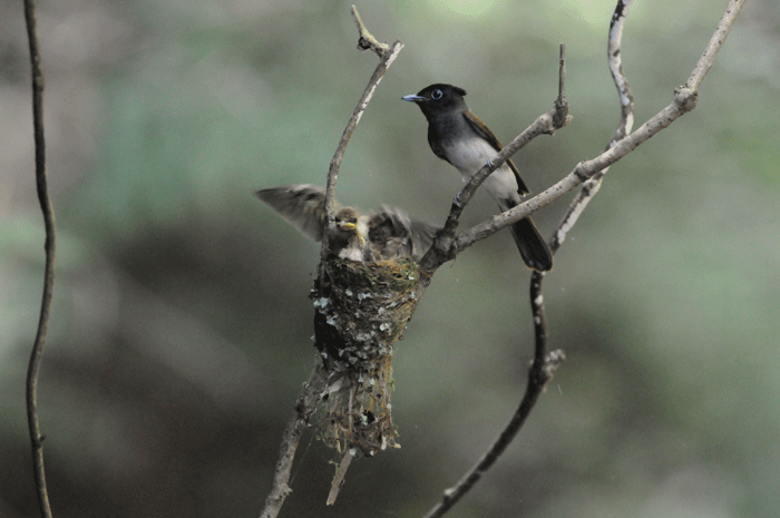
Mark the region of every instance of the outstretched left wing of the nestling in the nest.
[[[301, 231], [320, 242], [325, 228], [325, 192], [314, 185], [284, 185], [257, 190], [256, 196]], [[335, 204], [335, 211], [340, 205]]]

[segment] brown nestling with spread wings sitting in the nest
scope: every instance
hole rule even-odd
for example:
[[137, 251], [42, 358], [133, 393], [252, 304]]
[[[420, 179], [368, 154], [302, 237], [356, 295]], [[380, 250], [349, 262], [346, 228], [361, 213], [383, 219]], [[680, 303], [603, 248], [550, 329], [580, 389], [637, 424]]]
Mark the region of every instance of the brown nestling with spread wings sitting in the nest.
[[[325, 192], [313, 185], [285, 185], [255, 193], [284, 219], [315, 242], [325, 231]], [[400, 208], [382, 205], [359, 215], [352, 207], [335, 203], [330, 252], [342, 260], [371, 263], [398, 261], [425, 252], [437, 227], [411, 219]]]

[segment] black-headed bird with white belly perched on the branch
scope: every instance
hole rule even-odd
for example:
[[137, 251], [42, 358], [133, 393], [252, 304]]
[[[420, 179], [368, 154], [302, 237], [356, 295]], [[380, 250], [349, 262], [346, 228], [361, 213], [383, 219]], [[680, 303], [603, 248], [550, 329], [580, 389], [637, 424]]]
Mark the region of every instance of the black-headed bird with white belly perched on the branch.
[[[464, 182], [498, 156], [503, 146], [498, 138], [474, 115], [464, 99], [466, 90], [452, 85], [436, 84], [403, 100], [415, 102], [428, 119], [428, 144], [436, 156], [452, 164]], [[484, 184], [499, 208], [508, 211], [530, 190], [511, 160], [494, 170]], [[546, 272], [553, 268], [553, 254], [530, 217], [513, 223], [511, 235], [523, 261], [529, 268]]]

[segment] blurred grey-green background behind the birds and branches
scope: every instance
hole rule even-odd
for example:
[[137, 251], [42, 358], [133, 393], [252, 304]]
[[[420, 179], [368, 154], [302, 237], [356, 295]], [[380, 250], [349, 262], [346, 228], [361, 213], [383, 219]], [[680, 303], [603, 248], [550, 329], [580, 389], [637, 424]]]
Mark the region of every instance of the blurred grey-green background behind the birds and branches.
[[[636, 2], [638, 124], [688, 78], [725, 1]], [[567, 45], [574, 121], [515, 157], [535, 192], [617, 123], [614, 2], [358, 4], [406, 43], [348, 148], [339, 198], [443, 221], [459, 175], [400, 100], [469, 91], [504, 140], [550, 108]], [[0, 516], [37, 516], [23, 379], [43, 232], [18, 1], [0, 1]], [[324, 184], [377, 58], [349, 2], [45, 0], [48, 168], [59, 226], [39, 407], [57, 517], [254, 517], [316, 358], [319, 247], [253, 190]], [[614, 166], [556, 255], [545, 301], [567, 361], [449, 516], [780, 516], [780, 4], [753, 0], [696, 110]], [[571, 196], [569, 196], [571, 198]], [[535, 215], [549, 235], [566, 202]], [[466, 224], [495, 212], [480, 194]], [[508, 234], [433, 278], [396, 355], [400, 450], [353, 462], [308, 433], [283, 517], [413, 517], [491, 442], [532, 356], [529, 274]]]

